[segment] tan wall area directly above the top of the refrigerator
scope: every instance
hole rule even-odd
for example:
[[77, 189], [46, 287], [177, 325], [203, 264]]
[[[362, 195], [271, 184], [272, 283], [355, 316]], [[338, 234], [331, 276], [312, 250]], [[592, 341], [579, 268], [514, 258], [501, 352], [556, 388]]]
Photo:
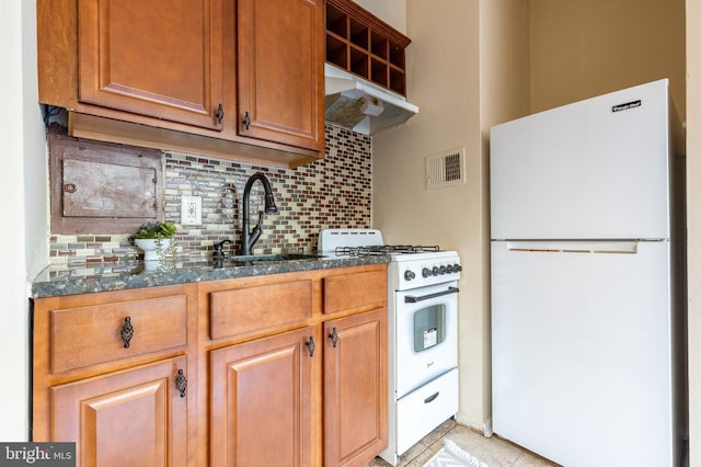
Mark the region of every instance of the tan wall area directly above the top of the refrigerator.
[[683, 122], [685, 0], [530, 0], [533, 112], [669, 78]]

